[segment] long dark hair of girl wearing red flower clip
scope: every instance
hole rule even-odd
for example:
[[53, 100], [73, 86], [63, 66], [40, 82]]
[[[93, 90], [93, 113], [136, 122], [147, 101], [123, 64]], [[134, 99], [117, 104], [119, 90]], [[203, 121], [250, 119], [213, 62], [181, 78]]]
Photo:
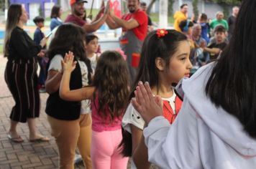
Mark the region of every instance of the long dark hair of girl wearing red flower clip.
[[[158, 38], [156, 32], [152, 31], [147, 35], [141, 52], [140, 64], [138, 68], [138, 74], [134, 81], [132, 92], [129, 95], [129, 100], [134, 97], [134, 90], [139, 81], [149, 82], [150, 87], [157, 87], [157, 92], [159, 89], [159, 79], [157, 67], [155, 66], [155, 59], [157, 57], [165, 60], [165, 63], [169, 63], [170, 58], [177, 51], [178, 44], [182, 41], [186, 41], [186, 35], [175, 31], [174, 29], [168, 29], [168, 34], [164, 37]], [[166, 67], [169, 65], [166, 64]], [[124, 145], [123, 155], [132, 155], [132, 137], [127, 131], [122, 131], [123, 140], [121, 145]]]

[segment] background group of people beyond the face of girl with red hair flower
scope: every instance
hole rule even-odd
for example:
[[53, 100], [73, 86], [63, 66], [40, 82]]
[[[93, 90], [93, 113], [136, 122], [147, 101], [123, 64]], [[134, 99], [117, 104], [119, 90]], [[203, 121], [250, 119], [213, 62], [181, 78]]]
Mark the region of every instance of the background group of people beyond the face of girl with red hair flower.
[[224, 19], [222, 11], [217, 11], [216, 19], [212, 20], [204, 13], [200, 14], [198, 19], [193, 15], [188, 19], [188, 4], [181, 5], [180, 11], [175, 12], [174, 29], [186, 34], [191, 46], [191, 74], [199, 67], [216, 60], [229, 44], [238, 12], [239, 7], [234, 6], [228, 21]]

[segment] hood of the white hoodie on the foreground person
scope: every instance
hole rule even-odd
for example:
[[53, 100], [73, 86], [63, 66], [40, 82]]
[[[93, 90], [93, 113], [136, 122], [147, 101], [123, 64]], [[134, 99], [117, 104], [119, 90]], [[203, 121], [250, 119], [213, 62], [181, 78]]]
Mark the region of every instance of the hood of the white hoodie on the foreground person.
[[207, 64], [198, 69], [189, 79], [183, 79], [176, 86], [176, 92], [183, 97], [196, 110], [209, 129], [224, 143], [245, 157], [256, 156], [256, 139], [245, 132], [237, 117], [230, 115], [221, 107], [216, 107], [206, 96], [205, 87], [211, 75], [214, 63]]

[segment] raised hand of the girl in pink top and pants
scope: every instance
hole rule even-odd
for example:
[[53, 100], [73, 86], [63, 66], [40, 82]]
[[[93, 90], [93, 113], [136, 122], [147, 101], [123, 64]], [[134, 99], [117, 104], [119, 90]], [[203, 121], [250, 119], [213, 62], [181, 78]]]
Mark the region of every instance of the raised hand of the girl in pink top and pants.
[[72, 72], [76, 68], [76, 61], [73, 62], [74, 55], [73, 52], [68, 52], [65, 54], [64, 60], [61, 61], [63, 67], [63, 72]]

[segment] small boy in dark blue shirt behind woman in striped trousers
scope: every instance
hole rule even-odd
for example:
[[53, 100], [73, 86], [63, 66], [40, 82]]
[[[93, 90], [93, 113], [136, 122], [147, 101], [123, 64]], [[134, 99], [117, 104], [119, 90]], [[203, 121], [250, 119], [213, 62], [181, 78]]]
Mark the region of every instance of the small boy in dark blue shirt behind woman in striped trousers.
[[[40, 44], [41, 40], [45, 37], [45, 34], [42, 33], [42, 27], [45, 26], [44, 21], [41, 16], [36, 16], [33, 19], [37, 29], [35, 29], [34, 33], [34, 41], [36, 44]], [[40, 74], [38, 77], [38, 87], [40, 88], [40, 92], [45, 92], [45, 79], [46, 79], [46, 64], [47, 58], [46, 57], [37, 57], [38, 63], [40, 65]]]

